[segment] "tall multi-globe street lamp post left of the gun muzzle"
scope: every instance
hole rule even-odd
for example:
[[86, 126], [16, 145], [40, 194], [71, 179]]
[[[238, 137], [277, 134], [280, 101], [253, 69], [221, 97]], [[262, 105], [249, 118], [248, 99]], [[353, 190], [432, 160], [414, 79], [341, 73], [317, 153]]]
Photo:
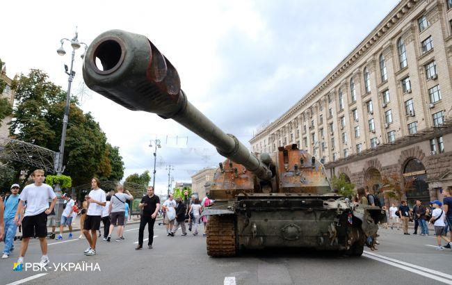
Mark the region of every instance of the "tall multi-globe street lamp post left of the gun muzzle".
[[[62, 38], [60, 40], [61, 47], [59, 47], [56, 50], [56, 52], [60, 56], [64, 56], [66, 54], [66, 51], [63, 48], [63, 44], [65, 41], [70, 42], [70, 44], [72, 46], [72, 58], [71, 58], [71, 67], [70, 67], [69, 71], [68, 71], [67, 65], [65, 65], [65, 72], [69, 76], [69, 79], [67, 79], [68, 84], [67, 84], [67, 93], [66, 93], [66, 105], [65, 105], [65, 113], [63, 116], [63, 130], [61, 131], [60, 151], [58, 152], [58, 156], [56, 158], [56, 163], [55, 163], [57, 175], [61, 175], [64, 171], [63, 155], [65, 152], [67, 121], [69, 120], [71, 85], [72, 85], [72, 81], [74, 80], [74, 76], [75, 76], [75, 72], [74, 72], [74, 70], [72, 70], [72, 68], [74, 67], [75, 50], [79, 49], [81, 47], [81, 44], [83, 44], [85, 46], [85, 51], [83, 52], [83, 54], [81, 54], [81, 58], [83, 58], [85, 56], [86, 49], [88, 49], [88, 45], [86, 43], [79, 42], [79, 33], [77, 33], [77, 31], [75, 31], [75, 36], [74, 36], [74, 38], [72, 38], [72, 40], [69, 40], [67, 38]], [[59, 184], [56, 185], [56, 190], [58, 190], [58, 191], [60, 190]]]

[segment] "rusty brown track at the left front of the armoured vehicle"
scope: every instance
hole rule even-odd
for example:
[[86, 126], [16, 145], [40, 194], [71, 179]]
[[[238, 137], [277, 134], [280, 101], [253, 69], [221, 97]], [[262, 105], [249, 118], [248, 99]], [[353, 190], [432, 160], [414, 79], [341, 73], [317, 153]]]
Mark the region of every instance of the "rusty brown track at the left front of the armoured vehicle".
[[209, 216], [207, 254], [211, 257], [234, 257], [236, 255], [234, 215]]

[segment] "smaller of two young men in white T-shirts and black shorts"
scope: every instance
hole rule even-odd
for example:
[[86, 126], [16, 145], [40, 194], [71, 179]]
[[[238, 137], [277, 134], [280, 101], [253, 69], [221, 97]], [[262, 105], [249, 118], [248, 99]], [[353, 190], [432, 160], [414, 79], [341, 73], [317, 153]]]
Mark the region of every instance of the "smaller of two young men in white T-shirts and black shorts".
[[102, 206], [106, 204], [106, 195], [104, 190], [99, 188], [100, 181], [97, 177], [91, 179], [91, 188], [86, 202], [88, 202], [88, 211], [86, 211], [85, 222], [83, 223], [83, 234], [88, 241], [89, 247], [84, 251], [88, 256], [96, 254], [97, 231], [100, 228], [100, 219], [102, 215]]

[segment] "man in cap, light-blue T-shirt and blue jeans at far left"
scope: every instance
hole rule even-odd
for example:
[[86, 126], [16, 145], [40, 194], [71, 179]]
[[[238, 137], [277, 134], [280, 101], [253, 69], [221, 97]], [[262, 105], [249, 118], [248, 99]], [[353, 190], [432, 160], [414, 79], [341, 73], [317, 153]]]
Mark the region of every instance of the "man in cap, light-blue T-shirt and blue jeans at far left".
[[[11, 194], [5, 198], [5, 202], [3, 203], [5, 204], [4, 213], [2, 215], [5, 222], [5, 247], [3, 248], [3, 255], [1, 256], [2, 259], [7, 259], [10, 256], [10, 253], [14, 250], [13, 242], [17, 231], [17, 225], [14, 222], [14, 216], [19, 204], [19, 189], [19, 184], [11, 185]], [[3, 209], [3, 207], [1, 207], [1, 209]], [[22, 218], [22, 215], [20, 215], [20, 218]]]

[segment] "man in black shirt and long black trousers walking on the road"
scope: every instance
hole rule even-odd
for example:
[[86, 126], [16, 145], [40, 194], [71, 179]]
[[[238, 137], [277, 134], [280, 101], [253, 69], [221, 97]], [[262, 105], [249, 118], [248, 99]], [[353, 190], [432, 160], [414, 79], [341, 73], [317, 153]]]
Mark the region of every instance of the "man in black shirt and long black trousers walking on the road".
[[154, 241], [154, 222], [157, 212], [159, 212], [160, 209], [160, 199], [159, 196], [154, 195], [154, 187], [147, 187], [147, 195], [141, 198], [138, 208], [143, 209], [143, 213], [140, 218], [140, 228], [138, 229], [138, 246], [135, 250], [141, 250], [143, 248], [143, 235], [146, 225], [149, 234], [147, 247], [152, 249], [152, 242]]

